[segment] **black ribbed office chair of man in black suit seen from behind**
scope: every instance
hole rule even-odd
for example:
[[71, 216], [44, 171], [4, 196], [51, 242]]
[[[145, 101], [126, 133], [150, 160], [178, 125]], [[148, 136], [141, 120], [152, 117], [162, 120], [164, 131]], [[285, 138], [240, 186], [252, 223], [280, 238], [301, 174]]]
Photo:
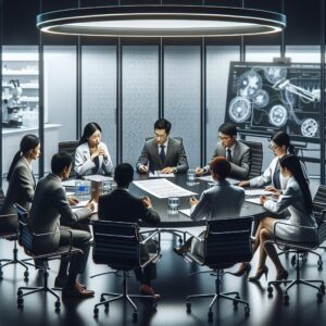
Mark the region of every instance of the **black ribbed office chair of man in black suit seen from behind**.
[[[128, 272], [137, 267], [146, 267], [150, 262], [156, 262], [160, 259], [160, 233], [151, 230], [140, 233], [137, 224], [112, 222], [112, 221], [93, 221], [93, 262], [96, 264], [106, 264], [111, 268], [123, 273], [123, 293], [101, 293], [101, 302], [93, 308], [93, 315], [97, 318], [99, 306], [104, 305], [105, 311], [112, 301], [127, 301], [134, 309], [133, 319], [138, 318], [138, 310], [131, 298], [149, 299], [153, 309], [156, 308], [154, 296], [137, 296], [128, 293], [127, 278]], [[143, 238], [145, 234], [150, 234]], [[141, 246], [145, 246], [154, 236], [159, 237], [156, 252], [150, 253], [147, 259], [141, 256]], [[112, 273], [112, 272], [108, 272]], [[100, 274], [102, 275], [102, 274]], [[105, 300], [105, 297], [113, 297]]]

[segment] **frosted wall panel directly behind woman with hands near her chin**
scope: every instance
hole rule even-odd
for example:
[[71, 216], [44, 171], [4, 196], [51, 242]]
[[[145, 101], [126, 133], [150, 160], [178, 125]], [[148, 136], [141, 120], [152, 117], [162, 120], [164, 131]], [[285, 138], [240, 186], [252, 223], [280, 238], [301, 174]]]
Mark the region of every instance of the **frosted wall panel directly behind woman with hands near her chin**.
[[116, 163], [116, 47], [84, 46], [82, 52], [82, 125], [97, 122]]

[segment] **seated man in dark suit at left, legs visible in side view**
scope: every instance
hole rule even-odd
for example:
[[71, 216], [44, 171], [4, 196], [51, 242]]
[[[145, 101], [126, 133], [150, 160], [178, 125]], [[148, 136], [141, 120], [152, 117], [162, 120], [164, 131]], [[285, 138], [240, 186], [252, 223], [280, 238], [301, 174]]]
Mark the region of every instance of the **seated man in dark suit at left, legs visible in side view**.
[[[89, 298], [93, 291], [87, 290], [77, 279], [77, 274], [84, 273], [90, 246], [90, 234], [83, 230], [70, 229], [60, 226], [60, 220], [71, 221], [77, 224], [78, 221], [88, 218], [93, 210], [90, 202], [85, 209], [72, 212], [65, 191], [61, 185], [67, 179], [72, 168], [72, 156], [65, 152], [54, 154], [51, 161], [52, 173], [41, 178], [37, 184], [35, 196], [29, 213], [28, 224], [36, 234], [50, 234], [41, 237], [34, 237], [33, 251], [35, 253], [47, 253], [61, 246], [71, 244], [83, 250], [83, 254], [73, 254], [71, 258], [62, 259], [57, 278], [65, 278], [62, 289], [62, 297]], [[68, 275], [66, 275], [70, 260]]]

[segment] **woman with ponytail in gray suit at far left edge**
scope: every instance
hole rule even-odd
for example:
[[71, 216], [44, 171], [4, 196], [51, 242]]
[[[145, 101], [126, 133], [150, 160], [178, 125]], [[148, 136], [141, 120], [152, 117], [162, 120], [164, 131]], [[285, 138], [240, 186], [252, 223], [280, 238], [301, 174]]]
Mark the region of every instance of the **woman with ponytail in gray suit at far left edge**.
[[[14, 203], [29, 211], [34, 191], [36, 187], [30, 163], [37, 160], [40, 154], [39, 138], [35, 135], [26, 135], [21, 140], [20, 150], [14, 155], [10, 165], [7, 179], [9, 181], [8, 191], [1, 209], [1, 215], [16, 214]], [[3, 224], [3, 225], [2, 225]], [[0, 229], [16, 229], [17, 220], [2, 221]]]

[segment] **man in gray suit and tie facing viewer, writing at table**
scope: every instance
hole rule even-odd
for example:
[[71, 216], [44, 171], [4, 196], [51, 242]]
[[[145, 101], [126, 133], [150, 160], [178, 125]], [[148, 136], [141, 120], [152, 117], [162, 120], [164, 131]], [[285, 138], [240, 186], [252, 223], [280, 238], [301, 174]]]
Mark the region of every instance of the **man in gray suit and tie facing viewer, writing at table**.
[[168, 137], [170, 130], [171, 123], [167, 120], [159, 118], [155, 122], [155, 136], [145, 142], [136, 164], [138, 172], [160, 171], [166, 174], [186, 172], [188, 170], [188, 161], [183, 142]]

